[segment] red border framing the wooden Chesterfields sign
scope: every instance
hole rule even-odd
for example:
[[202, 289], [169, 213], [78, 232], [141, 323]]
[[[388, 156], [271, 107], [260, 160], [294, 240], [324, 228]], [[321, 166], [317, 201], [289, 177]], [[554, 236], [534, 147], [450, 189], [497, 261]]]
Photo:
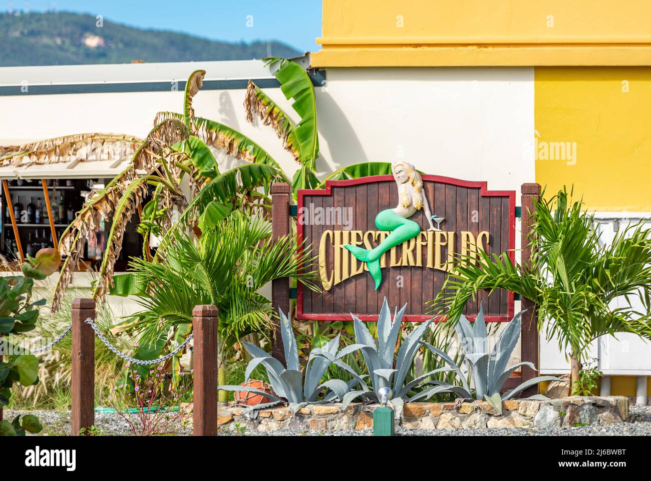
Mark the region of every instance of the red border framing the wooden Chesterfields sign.
[[[440, 175], [428, 175], [422, 174], [422, 180], [429, 182], [439, 182], [441, 184], [448, 184], [450, 186], [458, 187], [479, 187], [479, 194], [481, 197], [508, 197], [508, 224], [509, 224], [509, 233], [508, 233], [508, 256], [515, 264], [515, 249], [516, 249], [516, 191], [490, 191], [488, 190], [486, 181], [474, 181], [474, 180], [461, 180], [452, 177], [440, 176]], [[347, 186], [359, 186], [362, 184], [374, 184], [376, 182], [394, 182], [393, 175], [374, 175], [368, 177], [361, 177], [357, 179], [350, 180], [326, 180], [325, 189], [299, 189], [298, 191], [298, 201], [297, 208], [300, 212], [301, 207], [303, 207], [303, 197], [305, 195], [332, 195], [332, 187], [347, 187]], [[296, 222], [296, 238], [298, 245], [300, 246], [303, 243], [303, 225], [298, 223], [298, 218]], [[484, 320], [486, 322], [508, 322], [510, 321], [515, 314], [515, 297], [513, 292], [508, 291], [508, 314], [506, 316], [486, 316]], [[357, 314], [355, 314], [357, 315]], [[363, 321], [377, 321], [378, 317], [372, 314], [361, 314], [358, 315], [359, 319]], [[402, 318], [403, 322], [424, 322], [429, 320], [431, 316], [417, 316], [417, 315], [406, 315]], [[300, 281], [296, 282], [296, 319], [299, 321], [352, 321], [350, 314], [305, 314], [303, 313], [303, 284]], [[435, 321], [440, 320], [441, 318], [436, 318]], [[470, 320], [474, 320], [473, 316], [469, 316]]]

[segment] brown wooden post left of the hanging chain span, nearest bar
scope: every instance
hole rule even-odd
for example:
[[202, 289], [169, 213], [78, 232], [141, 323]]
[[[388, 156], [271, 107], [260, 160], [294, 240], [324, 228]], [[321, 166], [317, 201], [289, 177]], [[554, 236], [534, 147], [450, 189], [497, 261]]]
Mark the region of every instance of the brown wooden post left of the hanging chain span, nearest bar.
[[72, 435], [95, 424], [95, 301], [72, 301]]

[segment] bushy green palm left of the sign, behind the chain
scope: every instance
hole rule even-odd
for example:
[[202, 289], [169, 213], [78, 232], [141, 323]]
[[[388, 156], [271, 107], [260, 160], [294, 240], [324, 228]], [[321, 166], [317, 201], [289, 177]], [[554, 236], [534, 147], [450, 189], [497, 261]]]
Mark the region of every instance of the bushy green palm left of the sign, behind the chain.
[[[191, 332], [196, 305], [216, 305], [219, 375], [225, 376], [225, 353], [242, 337], [271, 330], [271, 302], [258, 291], [273, 279], [289, 276], [316, 289], [317, 277], [306, 272], [313, 260], [307, 250], [299, 254], [291, 235], [272, 241], [271, 226], [260, 217], [235, 212], [212, 225], [206, 221], [202, 230], [199, 240], [178, 231], [174, 248], [158, 261], [132, 258], [133, 272], [115, 276], [115, 281], [121, 295], [135, 295], [143, 307], [127, 327], [140, 333], [135, 355], [141, 359], [158, 357], [169, 344], [183, 342]], [[171, 371], [176, 379], [176, 357]]]

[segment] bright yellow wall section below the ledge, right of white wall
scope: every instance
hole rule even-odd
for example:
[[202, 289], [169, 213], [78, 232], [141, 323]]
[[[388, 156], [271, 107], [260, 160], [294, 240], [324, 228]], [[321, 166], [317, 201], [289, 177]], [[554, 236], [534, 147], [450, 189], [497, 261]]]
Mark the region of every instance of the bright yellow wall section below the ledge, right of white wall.
[[590, 210], [651, 212], [651, 68], [536, 67], [534, 78], [539, 156], [576, 146], [575, 159], [538, 158], [536, 182], [574, 184]]

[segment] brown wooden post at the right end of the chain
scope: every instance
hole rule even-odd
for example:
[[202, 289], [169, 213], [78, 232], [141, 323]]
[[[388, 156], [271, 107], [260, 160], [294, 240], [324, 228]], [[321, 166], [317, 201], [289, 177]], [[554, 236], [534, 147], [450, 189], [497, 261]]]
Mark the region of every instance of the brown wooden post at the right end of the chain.
[[194, 333], [194, 409], [195, 436], [217, 435], [217, 307], [195, 306], [192, 310]]

